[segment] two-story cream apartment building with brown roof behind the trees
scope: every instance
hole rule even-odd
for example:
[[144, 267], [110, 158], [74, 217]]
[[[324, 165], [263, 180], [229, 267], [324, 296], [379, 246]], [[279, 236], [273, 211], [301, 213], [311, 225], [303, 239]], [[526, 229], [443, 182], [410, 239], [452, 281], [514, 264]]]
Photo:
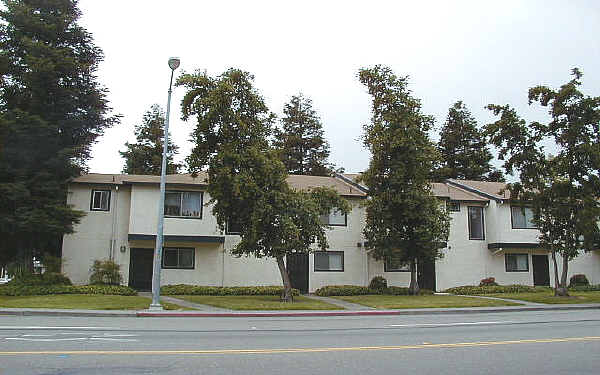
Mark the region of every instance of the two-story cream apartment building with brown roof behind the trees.
[[[390, 285], [407, 286], [408, 268], [376, 261], [364, 248], [362, 230], [366, 189], [354, 175], [316, 177], [290, 175], [295, 189], [327, 186], [348, 199], [348, 215], [333, 212], [324, 218], [329, 250], [287, 259], [295, 287], [314, 291], [324, 285], [367, 285], [384, 276]], [[280, 285], [274, 259], [237, 258], [230, 254], [239, 241], [235, 227], [221, 231], [212, 215], [206, 176], [169, 175], [165, 196], [162, 284], [212, 286]], [[88, 174], [69, 186], [67, 202], [87, 215], [75, 233], [63, 239], [64, 272], [75, 283], [87, 283], [96, 259], [121, 265], [125, 283], [150, 289], [153, 249], [158, 221], [158, 176]], [[443, 290], [478, 284], [495, 277], [501, 284], [549, 285], [552, 266], [538, 245], [531, 211], [511, 204], [504, 184], [448, 180], [433, 184], [434, 194], [446, 201], [452, 217], [444, 257], [419, 265], [422, 287]], [[584, 273], [600, 283], [600, 254], [581, 254], [569, 274]]]

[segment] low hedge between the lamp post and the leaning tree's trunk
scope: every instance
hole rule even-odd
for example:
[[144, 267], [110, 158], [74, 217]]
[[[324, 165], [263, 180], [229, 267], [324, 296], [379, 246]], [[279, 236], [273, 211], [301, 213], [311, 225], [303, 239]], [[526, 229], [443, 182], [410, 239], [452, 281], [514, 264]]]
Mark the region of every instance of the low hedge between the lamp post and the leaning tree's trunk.
[[[280, 296], [283, 287], [280, 286], [201, 286], [189, 284], [164, 285], [160, 288], [161, 295], [192, 295], [192, 296]], [[292, 289], [292, 295], [300, 295], [298, 289]]]

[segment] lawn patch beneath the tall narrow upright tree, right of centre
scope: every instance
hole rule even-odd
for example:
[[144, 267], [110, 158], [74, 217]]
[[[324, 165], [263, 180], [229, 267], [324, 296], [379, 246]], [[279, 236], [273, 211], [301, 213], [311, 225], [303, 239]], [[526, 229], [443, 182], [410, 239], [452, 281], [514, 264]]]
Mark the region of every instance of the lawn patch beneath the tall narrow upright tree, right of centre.
[[488, 306], [517, 306], [518, 303], [505, 301], [458, 297], [458, 296], [390, 296], [390, 295], [366, 295], [366, 296], [339, 296], [333, 297], [358, 303], [376, 309], [421, 309], [434, 307], [488, 307]]

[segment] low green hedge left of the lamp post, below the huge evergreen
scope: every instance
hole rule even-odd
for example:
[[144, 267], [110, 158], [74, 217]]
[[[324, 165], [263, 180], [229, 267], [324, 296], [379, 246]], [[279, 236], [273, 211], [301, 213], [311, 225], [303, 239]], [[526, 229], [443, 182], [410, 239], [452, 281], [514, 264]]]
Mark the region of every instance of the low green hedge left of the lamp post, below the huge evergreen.
[[110, 294], [135, 296], [137, 292], [123, 285], [22, 285], [0, 286], [0, 296], [42, 296], [49, 294]]

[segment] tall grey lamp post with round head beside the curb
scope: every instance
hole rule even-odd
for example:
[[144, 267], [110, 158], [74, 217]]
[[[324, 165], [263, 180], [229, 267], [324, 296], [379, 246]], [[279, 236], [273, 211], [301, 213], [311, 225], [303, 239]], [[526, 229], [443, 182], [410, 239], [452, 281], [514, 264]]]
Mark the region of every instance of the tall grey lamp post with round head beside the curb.
[[152, 270], [152, 303], [150, 310], [162, 310], [160, 305], [160, 268], [162, 263], [163, 226], [165, 223], [165, 183], [167, 179], [167, 151], [169, 148], [169, 114], [171, 112], [171, 88], [173, 86], [173, 73], [179, 67], [179, 58], [169, 59], [171, 80], [169, 81], [169, 97], [167, 99], [167, 117], [163, 136], [163, 157], [160, 168], [160, 198], [158, 200], [158, 225], [156, 228], [156, 248], [154, 249], [154, 264]]

